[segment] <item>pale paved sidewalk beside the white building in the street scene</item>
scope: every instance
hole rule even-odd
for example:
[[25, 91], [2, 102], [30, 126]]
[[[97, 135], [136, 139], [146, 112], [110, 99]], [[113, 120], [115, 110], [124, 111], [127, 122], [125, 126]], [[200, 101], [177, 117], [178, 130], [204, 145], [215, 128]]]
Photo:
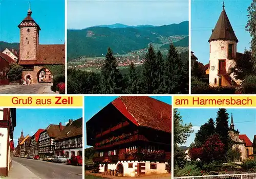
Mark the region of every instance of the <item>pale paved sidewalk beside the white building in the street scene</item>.
[[9, 171], [9, 176], [6, 179], [34, 179], [39, 178], [34, 173], [32, 173], [28, 168], [19, 164], [18, 162], [12, 161], [12, 166]]

